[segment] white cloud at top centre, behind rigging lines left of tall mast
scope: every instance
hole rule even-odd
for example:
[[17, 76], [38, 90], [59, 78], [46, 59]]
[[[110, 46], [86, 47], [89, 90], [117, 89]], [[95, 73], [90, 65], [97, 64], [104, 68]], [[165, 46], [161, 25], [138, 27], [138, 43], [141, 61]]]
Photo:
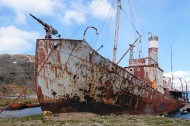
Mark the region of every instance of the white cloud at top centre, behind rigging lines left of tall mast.
[[92, 16], [96, 18], [111, 18], [115, 14], [114, 9], [107, 0], [92, 0], [90, 3], [86, 3], [86, 5], [81, 0], [78, 0], [70, 3], [62, 21], [68, 25], [72, 21], [82, 23], [91, 12], [93, 12]]

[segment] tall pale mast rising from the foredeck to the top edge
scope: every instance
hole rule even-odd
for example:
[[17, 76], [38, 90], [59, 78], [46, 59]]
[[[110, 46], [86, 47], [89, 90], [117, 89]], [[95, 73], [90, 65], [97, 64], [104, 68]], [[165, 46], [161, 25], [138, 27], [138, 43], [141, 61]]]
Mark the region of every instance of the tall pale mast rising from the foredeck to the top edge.
[[117, 0], [117, 15], [115, 25], [115, 37], [114, 37], [114, 48], [113, 48], [113, 62], [116, 63], [116, 52], [117, 52], [117, 40], [119, 31], [119, 18], [120, 18], [121, 0]]

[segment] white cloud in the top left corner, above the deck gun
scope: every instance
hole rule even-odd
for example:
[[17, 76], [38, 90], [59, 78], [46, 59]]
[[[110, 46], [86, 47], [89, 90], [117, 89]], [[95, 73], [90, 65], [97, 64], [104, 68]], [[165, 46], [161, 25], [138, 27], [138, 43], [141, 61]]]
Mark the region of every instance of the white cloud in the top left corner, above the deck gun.
[[0, 0], [0, 6], [16, 13], [16, 23], [25, 24], [26, 14], [54, 16], [65, 5], [59, 0]]

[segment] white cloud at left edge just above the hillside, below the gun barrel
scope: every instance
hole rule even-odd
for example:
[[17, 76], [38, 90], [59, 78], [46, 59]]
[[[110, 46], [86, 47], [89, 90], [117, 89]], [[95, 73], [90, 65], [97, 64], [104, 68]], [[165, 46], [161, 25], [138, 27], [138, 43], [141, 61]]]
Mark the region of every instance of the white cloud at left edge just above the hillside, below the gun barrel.
[[0, 53], [20, 54], [32, 48], [29, 41], [35, 42], [39, 38], [37, 32], [26, 32], [17, 29], [14, 26], [0, 28]]

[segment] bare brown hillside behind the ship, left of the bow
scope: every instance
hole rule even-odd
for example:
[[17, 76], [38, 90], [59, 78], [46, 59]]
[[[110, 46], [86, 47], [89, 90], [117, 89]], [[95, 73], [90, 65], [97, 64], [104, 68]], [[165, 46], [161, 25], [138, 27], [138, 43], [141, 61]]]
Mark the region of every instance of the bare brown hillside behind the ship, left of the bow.
[[34, 87], [34, 63], [33, 55], [0, 54], [0, 94], [19, 93], [25, 85]]

